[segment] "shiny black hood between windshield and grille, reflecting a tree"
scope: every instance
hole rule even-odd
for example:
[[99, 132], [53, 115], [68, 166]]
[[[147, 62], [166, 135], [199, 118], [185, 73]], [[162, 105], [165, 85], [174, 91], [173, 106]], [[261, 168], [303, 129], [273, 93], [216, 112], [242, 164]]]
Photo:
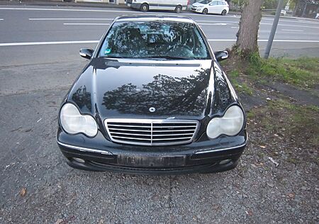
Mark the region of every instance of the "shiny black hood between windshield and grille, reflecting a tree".
[[[212, 60], [94, 58], [74, 82], [67, 101], [76, 104], [81, 113], [98, 115], [102, 121], [105, 118], [201, 119], [211, 113], [214, 65]], [[223, 86], [226, 95], [222, 98], [228, 102], [230, 91], [225, 80]], [[150, 112], [151, 107], [155, 112]]]

